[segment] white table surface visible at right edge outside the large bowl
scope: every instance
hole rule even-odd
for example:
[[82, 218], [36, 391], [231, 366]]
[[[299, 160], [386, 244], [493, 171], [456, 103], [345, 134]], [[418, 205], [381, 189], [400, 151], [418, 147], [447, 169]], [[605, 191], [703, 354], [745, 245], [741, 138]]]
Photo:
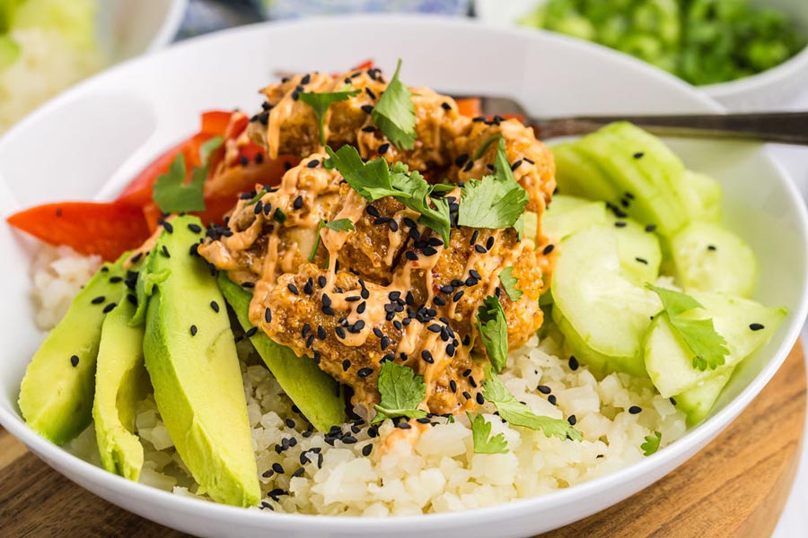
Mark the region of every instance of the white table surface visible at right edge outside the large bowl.
[[[808, 88], [803, 94], [789, 103], [789, 109], [808, 110]], [[800, 192], [808, 199], [808, 148], [773, 145], [771, 152], [788, 169]], [[808, 342], [808, 325], [803, 329], [803, 340]], [[808, 428], [808, 422], [806, 422]], [[808, 443], [803, 441], [803, 455], [800, 467], [788, 498], [786, 509], [773, 538], [804, 538], [808, 536]]]

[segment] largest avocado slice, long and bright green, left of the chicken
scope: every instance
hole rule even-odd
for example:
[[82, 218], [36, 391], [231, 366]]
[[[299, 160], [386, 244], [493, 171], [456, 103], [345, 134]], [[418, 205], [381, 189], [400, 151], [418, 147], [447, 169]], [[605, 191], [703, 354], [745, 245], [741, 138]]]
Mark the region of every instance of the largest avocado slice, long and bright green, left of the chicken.
[[[193, 230], [191, 230], [193, 229]], [[171, 231], [170, 231], [171, 230]], [[261, 492], [242, 372], [222, 293], [191, 247], [201, 222], [180, 216], [154, 246], [145, 367], [154, 400], [190, 473], [212, 499], [248, 507]]]

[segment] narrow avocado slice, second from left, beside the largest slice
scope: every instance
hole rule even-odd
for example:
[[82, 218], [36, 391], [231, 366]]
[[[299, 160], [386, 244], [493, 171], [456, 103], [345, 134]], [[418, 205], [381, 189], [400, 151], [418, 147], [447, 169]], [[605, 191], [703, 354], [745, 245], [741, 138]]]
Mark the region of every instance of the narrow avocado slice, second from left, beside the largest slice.
[[143, 364], [143, 327], [129, 326], [135, 306], [123, 300], [104, 320], [95, 371], [92, 419], [101, 464], [137, 482], [143, 446], [135, 431], [135, 407], [143, 399], [148, 378]]

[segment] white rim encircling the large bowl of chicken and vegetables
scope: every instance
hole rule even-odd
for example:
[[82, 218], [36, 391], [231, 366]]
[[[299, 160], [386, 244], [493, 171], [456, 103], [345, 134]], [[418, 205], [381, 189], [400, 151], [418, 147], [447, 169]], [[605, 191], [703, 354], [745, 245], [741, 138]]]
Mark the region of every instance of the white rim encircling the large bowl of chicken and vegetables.
[[[92, 89], [92, 86], [98, 83], [97, 81], [103, 81], [117, 76], [119, 71], [128, 69], [130, 65], [150, 62], [153, 61], [152, 58], [154, 57], [171, 55], [186, 48], [193, 48], [198, 43], [217, 39], [238, 39], [238, 34], [242, 32], [271, 31], [276, 27], [287, 26], [303, 26], [307, 30], [316, 31], [316, 28], [321, 25], [340, 25], [348, 21], [351, 24], [418, 24], [424, 27], [424, 30], [440, 30], [447, 27], [455, 27], [481, 31], [479, 22], [452, 17], [435, 15], [424, 16], [417, 14], [400, 14], [394, 16], [365, 14], [350, 17], [313, 17], [303, 21], [259, 22], [242, 27], [221, 30], [193, 39], [184, 40], [154, 55], [141, 56], [127, 60], [101, 74], [94, 75], [80, 82], [69, 91], [48, 101], [31, 113], [31, 115], [13, 126], [4, 137], [0, 138], [0, 147], [2, 147], [5, 140], [27, 128], [29, 123], [47, 115], [52, 109], [62, 106], [63, 103], [73, 100], [74, 96], [83, 94], [87, 89]], [[624, 55], [610, 48], [601, 47], [580, 39], [570, 38], [544, 30], [486, 27], [484, 31], [501, 35], [521, 35], [525, 39], [535, 39], [537, 35], [540, 35], [540, 39], [547, 39], [549, 42], [555, 41], [564, 43], [566, 47], [582, 49], [585, 54], [591, 56], [610, 58], [610, 61], [645, 71], [649, 77], [654, 77], [660, 80], [660, 82], [667, 83], [674, 87], [678, 86], [681, 91], [689, 94], [689, 97], [692, 98], [694, 103], [698, 102], [699, 106], [705, 111], [712, 110], [720, 112], [724, 109], [714, 100], [700, 93], [698, 89], [693, 86], [681, 81], [678, 77], [658, 70], [652, 65], [647, 65], [645, 62], [633, 56]], [[802, 197], [795, 186], [795, 182], [790, 178], [786, 169], [774, 159], [768, 151], [764, 151], [763, 157], [769, 161], [771, 166], [777, 171], [777, 182], [786, 190], [786, 194], [789, 195], [791, 199], [795, 200], [796, 218], [799, 222], [798, 232], [804, 241], [804, 248], [808, 250], [808, 210], [806, 210], [805, 204], [802, 203]], [[201, 499], [190, 499], [168, 491], [158, 490], [139, 482], [128, 481], [123, 477], [109, 473], [101, 467], [84, 461], [78, 456], [74, 456], [64, 448], [58, 447], [47, 439], [40, 437], [39, 434], [31, 430], [31, 428], [22, 421], [22, 417], [20, 417], [15, 410], [7, 411], [3, 407], [0, 407], [0, 425], [12, 433], [13, 436], [22, 440], [25, 445], [31, 447], [31, 450], [35, 452], [37, 456], [40, 456], [40, 459], [45, 460], [46, 463], [50, 464], [51, 461], [58, 461], [60, 466], [66, 470], [66, 473], [82, 476], [87, 482], [97, 484], [106, 490], [114, 490], [116, 494], [139, 501], [146, 506], [154, 505], [159, 502], [162, 506], [170, 507], [178, 514], [194, 513], [199, 509], [203, 509], [205, 510], [206, 517], [215, 518], [219, 521], [247, 521], [252, 525], [273, 527], [276, 530], [308, 529], [322, 533], [355, 532], [370, 534], [383, 532], [385, 530], [400, 530], [402, 525], [407, 525], [408, 530], [412, 532], [435, 531], [437, 527], [451, 528], [452, 525], [461, 522], [465, 526], [484, 525], [491, 519], [501, 520], [508, 516], [527, 516], [537, 509], [552, 510], [563, 508], [572, 501], [575, 501], [576, 498], [588, 499], [603, 490], [618, 490], [621, 484], [627, 484], [635, 475], [653, 475], [654, 469], [662, 469], [665, 467], [665, 464], [670, 465], [676, 461], [681, 461], [693, 447], [703, 447], [709, 440], [715, 438], [721, 430], [724, 430], [725, 427], [750, 404], [751, 400], [760, 393], [760, 390], [763, 386], [766, 386], [771, 377], [775, 375], [797, 341], [803, 326], [802, 321], [805, 319], [806, 315], [808, 315], [808, 276], [806, 276], [803, 289], [801, 290], [799, 307], [793, 313], [792, 325], [787, 327], [786, 334], [782, 338], [780, 346], [766, 362], [766, 365], [761, 369], [760, 373], [751, 380], [749, 385], [746, 386], [739, 395], [731, 402], [727, 403], [724, 409], [716, 412], [716, 414], [697, 427], [688, 430], [682, 438], [668, 447], [663, 448], [656, 454], [645, 457], [643, 460], [629, 464], [617, 471], [607, 473], [601, 477], [576, 484], [575, 486], [563, 490], [555, 490], [531, 498], [514, 499], [491, 507], [466, 509], [460, 512], [412, 516], [311, 516], [277, 512], [268, 515], [262, 513], [262, 510], [237, 508], [207, 502]], [[782, 330], [782, 328], [780, 330]], [[15, 407], [14, 404], [13, 402], [12, 407]], [[654, 479], [653, 482], [656, 480], [657, 479]]]

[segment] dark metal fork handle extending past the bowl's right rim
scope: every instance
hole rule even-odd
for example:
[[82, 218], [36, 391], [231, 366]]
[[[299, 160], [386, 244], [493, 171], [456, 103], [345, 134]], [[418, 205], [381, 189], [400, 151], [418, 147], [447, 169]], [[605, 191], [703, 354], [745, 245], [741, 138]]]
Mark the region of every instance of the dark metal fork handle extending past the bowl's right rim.
[[559, 117], [531, 121], [540, 138], [587, 134], [629, 121], [661, 136], [736, 138], [808, 145], [808, 112], [694, 114], [689, 116]]

